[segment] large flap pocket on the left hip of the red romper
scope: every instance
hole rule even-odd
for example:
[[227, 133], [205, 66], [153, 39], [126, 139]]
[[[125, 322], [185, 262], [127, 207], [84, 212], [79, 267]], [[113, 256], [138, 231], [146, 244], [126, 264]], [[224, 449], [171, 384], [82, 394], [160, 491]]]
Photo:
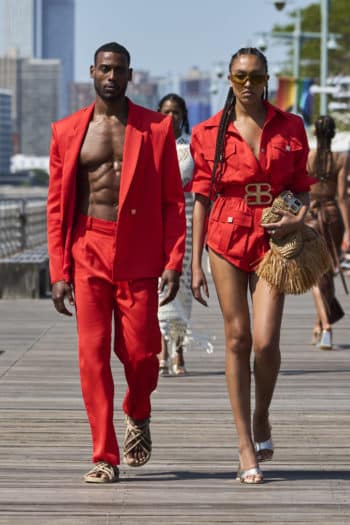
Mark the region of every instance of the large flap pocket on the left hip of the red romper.
[[243, 258], [252, 231], [252, 215], [240, 210], [226, 209], [225, 203], [220, 203], [213, 212], [209, 219], [209, 244], [220, 253]]

